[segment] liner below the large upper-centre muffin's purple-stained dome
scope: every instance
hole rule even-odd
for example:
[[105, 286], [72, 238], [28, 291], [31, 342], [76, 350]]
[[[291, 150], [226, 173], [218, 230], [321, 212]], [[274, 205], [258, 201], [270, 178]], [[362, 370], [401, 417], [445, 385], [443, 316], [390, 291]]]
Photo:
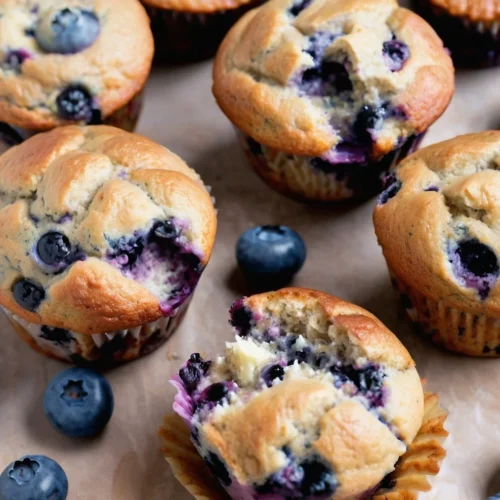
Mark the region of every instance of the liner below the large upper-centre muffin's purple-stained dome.
[[424, 134], [409, 138], [378, 162], [322, 162], [327, 169], [313, 165], [315, 158], [289, 155], [259, 144], [239, 131], [237, 135], [250, 165], [270, 187], [299, 200], [334, 202], [378, 194], [387, 172], [418, 149]]

